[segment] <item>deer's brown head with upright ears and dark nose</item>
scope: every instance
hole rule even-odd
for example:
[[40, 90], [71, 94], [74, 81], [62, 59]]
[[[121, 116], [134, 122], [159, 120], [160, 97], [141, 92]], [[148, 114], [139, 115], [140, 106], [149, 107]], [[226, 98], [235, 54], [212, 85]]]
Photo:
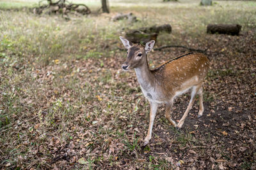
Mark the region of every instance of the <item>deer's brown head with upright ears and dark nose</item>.
[[154, 40], [148, 41], [145, 46], [140, 44], [132, 45], [132, 43], [120, 36], [120, 39], [127, 49], [127, 57], [122, 64], [122, 69], [127, 71], [128, 69], [134, 69], [136, 67], [142, 66], [145, 62], [147, 62], [147, 53], [150, 52], [155, 44]]

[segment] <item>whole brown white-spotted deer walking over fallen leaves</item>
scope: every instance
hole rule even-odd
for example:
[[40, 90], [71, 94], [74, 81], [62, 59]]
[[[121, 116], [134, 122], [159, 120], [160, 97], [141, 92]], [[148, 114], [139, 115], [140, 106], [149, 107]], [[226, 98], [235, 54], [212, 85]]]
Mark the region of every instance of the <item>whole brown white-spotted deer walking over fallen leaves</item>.
[[[145, 96], [150, 103], [150, 120], [147, 136], [144, 139], [144, 146], [149, 143], [152, 137], [154, 119], [160, 104], [165, 104], [166, 119], [173, 127], [180, 129], [198, 94], [198, 118], [202, 117], [204, 112], [202, 85], [210, 66], [209, 59], [203, 53], [187, 53], [180, 55], [175, 59], [160, 64], [154, 69], [149, 69], [147, 54], [153, 49], [155, 41], [148, 41], [146, 45], [143, 46], [140, 44], [132, 44], [132, 42], [122, 36], [120, 36], [120, 40], [127, 49], [127, 57], [124, 64], [122, 64], [122, 69], [124, 69], [124, 71], [135, 69], [143, 96]], [[173, 101], [175, 97], [189, 90], [191, 90], [191, 99], [188, 108], [182, 118], [180, 118], [179, 123], [176, 124], [170, 117]]]

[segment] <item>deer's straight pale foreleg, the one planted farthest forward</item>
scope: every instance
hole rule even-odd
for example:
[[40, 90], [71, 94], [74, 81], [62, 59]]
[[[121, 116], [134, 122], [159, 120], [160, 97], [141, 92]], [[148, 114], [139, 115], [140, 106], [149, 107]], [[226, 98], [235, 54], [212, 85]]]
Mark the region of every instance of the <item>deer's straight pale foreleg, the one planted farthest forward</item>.
[[157, 103], [150, 102], [149, 127], [148, 127], [148, 134], [144, 140], [144, 145], [147, 145], [149, 140], [151, 139], [152, 129], [153, 129], [153, 124], [154, 124], [154, 119], [156, 117], [157, 108], [158, 108]]

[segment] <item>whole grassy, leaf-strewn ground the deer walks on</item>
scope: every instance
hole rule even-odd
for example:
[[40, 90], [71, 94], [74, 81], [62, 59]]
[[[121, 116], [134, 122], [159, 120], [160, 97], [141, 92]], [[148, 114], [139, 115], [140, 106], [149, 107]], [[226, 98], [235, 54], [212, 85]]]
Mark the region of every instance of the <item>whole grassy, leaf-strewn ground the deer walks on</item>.
[[[2, 169], [256, 169], [256, 2], [143, 2], [115, 1], [110, 14], [71, 15], [68, 22], [0, 10]], [[118, 12], [139, 21], [110, 21]], [[210, 23], [241, 24], [242, 31], [206, 34]], [[159, 35], [156, 48], [206, 50], [211, 67], [204, 115], [197, 118], [196, 100], [178, 131], [162, 106], [143, 146], [150, 108], [134, 71], [121, 69], [126, 52], [118, 37], [154, 24], [173, 29]], [[153, 51], [148, 63], [187, 52]], [[189, 96], [175, 99], [177, 122]]]

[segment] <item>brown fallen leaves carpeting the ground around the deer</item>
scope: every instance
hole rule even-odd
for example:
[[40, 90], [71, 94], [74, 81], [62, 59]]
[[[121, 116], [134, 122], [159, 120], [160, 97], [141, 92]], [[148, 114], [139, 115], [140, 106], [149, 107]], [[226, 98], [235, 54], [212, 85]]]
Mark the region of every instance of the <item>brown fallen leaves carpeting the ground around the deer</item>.
[[[142, 146], [149, 106], [134, 71], [120, 69], [124, 52], [116, 50], [115, 55], [99, 59], [54, 60], [47, 66], [35, 67], [30, 72], [33, 80], [24, 81], [20, 89], [13, 85], [12, 90], [3, 94], [12, 92], [10, 97], [18, 97], [12, 107], [22, 106], [26, 114], [11, 114], [10, 127], [6, 120], [7, 125], [1, 128], [1, 138], [7, 140], [0, 143], [0, 166], [255, 169], [256, 40], [253, 32], [243, 32], [241, 36], [206, 35], [207, 43], [205, 39], [195, 41], [189, 36], [184, 39], [195, 48], [197, 41], [203, 42], [201, 47], [209, 48], [211, 70], [204, 84], [203, 117], [196, 118], [195, 104], [184, 128], [177, 131], [164, 118], [162, 107], [150, 143]], [[184, 52], [165, 49], [151, 53], [148, 58], [159, 64]], [[26, 89], [30, 82], [33, 88]], [[175, 100], [172, 114], [175, 120], [182, 117], [188, 100], [186, 95]], [[1, 110], [7, 110], [6, 105], [2, 107]]]

